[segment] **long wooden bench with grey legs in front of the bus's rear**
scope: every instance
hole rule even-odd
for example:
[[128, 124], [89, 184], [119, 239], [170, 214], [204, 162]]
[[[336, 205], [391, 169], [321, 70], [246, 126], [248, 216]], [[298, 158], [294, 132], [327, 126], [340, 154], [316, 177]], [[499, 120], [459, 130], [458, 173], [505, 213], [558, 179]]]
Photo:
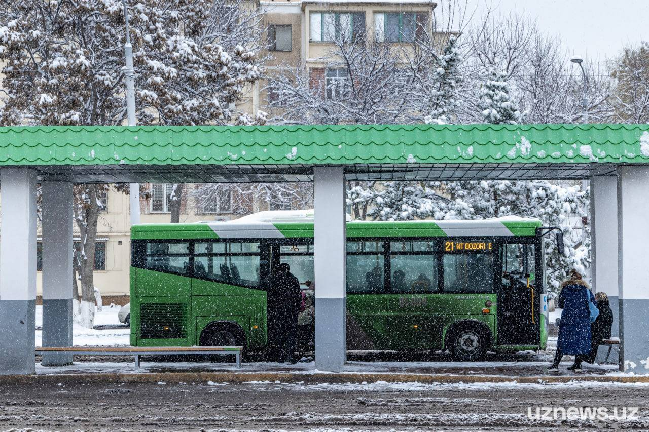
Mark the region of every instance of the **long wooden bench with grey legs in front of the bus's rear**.
[[241, 350], [241, 346], [47, 346], [36, 348], [36, 354], [67, 352], [78, 355], [133, 355], [136, 369], [140, 368], [141, 355], [234, 354], [237, 368], [241, 368]]

